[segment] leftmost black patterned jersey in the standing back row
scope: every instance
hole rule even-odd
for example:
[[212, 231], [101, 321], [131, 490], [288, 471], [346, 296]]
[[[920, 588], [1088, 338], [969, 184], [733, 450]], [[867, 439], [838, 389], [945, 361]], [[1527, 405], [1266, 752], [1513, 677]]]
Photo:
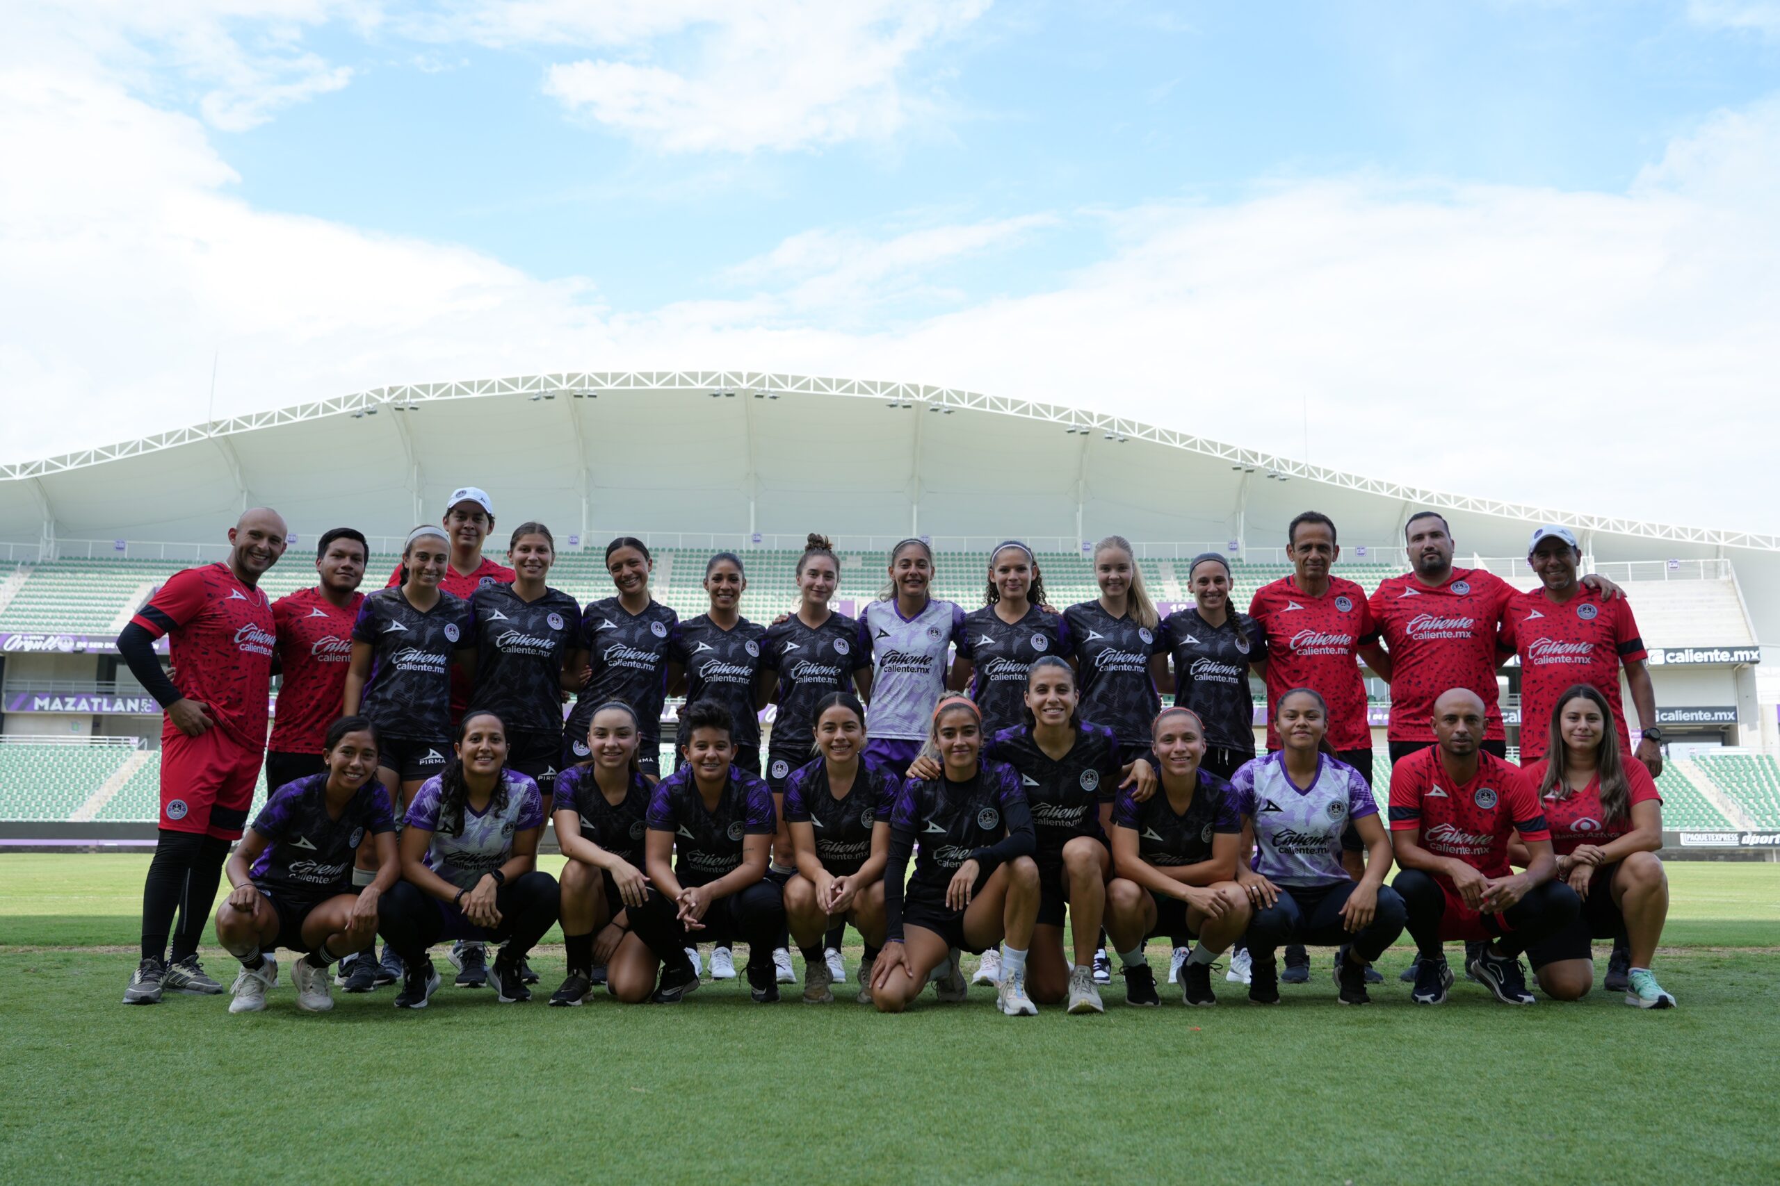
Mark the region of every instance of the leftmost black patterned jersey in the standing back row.
[[441, 592], [422, 612], [400, 587], [379, 589], [358, 608], [352, 642], [368, 642], [374, 656], [360, 713], [393, 738], [443, 741], [452, 734], [452, 654], [475, 645], [468, 601]]

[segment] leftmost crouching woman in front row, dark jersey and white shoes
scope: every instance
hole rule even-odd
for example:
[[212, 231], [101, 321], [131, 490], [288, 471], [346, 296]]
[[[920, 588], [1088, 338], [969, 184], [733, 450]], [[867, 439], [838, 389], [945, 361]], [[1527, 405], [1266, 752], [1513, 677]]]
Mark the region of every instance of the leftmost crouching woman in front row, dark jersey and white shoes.
[[[217, 907], [217, 942], [240, 960], [228, 1012], [265, 1008], [278, 983], [278, 960], [265, 951], [288, 948], [297, 960], [297, 1008], [333, 1008], [328, 964], [367, 948], [377, 935], [377, 903], [400, 873], [395, 818], [377, 773], [377, 729], [363, 717], [342, 717], [322, 740], [326, 773], [272, 791], [253, 827], [228, 859], [235, 889]], [[377, 846], [376, 880], [352, 893], [352, 853], [365, 836]]]

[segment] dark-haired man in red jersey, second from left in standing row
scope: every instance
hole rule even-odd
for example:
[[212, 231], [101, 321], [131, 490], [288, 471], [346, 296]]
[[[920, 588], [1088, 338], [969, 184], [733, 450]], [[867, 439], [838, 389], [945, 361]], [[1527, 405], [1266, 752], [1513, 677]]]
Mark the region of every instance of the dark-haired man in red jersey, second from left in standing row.
[[315, 546], [313, 589], [288, 592], [272, 603], [278, 633], [278, 713], [265, 752], [265, 784], [295, 782], [326, 768], [322, 738], [340, 718], [345, 667], [352, 658], [352, 622], [365, 594], [370, 546], [349, 526], [324, 533]]

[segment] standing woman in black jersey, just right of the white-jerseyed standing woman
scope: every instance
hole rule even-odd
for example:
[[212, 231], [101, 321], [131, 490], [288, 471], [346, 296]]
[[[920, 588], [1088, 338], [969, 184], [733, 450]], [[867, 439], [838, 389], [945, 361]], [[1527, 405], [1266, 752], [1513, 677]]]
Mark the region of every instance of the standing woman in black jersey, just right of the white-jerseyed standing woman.
[[1016, 539], [990, 553], [983, 608], [965, 615], [952, 660], [952, 690], [970, 688], [983, 709], [983, 733], [995, 736], [1025, 720], [1025, 672], [1041, 654], [1070, 656], [1070, 628], [1045, 606], [1045, 578], [1032, 549]]

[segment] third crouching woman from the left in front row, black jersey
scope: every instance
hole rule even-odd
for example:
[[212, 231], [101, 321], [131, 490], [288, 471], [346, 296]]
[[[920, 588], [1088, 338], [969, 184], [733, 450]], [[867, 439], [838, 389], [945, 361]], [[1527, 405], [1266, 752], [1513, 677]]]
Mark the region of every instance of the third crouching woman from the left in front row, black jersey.
[[637, 766], [643, 725], [623, 701], [593, 709], [587, 749], [593, 761], [557, 775], [555, 834], [562, 846], [562, 942], [568, 978], [550, 996], [557, 1006], [580, 1005], [621, 944], [639, 948], [628, 912], [643, 905], [650, 781]]

